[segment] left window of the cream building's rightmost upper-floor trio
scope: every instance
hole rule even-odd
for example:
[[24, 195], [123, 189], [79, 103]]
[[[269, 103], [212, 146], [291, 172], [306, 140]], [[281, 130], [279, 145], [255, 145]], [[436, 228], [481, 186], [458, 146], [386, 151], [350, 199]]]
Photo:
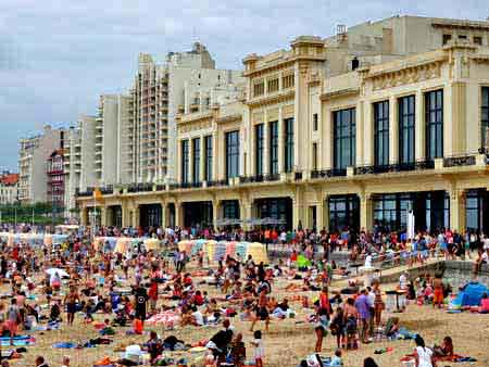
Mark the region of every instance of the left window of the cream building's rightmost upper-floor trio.
[[374, 164], [389, 164], [389, 101], [374, 103]]

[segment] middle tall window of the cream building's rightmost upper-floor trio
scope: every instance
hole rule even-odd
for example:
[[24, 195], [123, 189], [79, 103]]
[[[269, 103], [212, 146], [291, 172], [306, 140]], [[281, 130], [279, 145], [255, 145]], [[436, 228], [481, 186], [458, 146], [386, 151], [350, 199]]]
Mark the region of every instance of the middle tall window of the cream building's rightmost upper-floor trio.
[[413, 164], [414, 155], [414, 96], [402, 97], [399, 103], [399, 163]]

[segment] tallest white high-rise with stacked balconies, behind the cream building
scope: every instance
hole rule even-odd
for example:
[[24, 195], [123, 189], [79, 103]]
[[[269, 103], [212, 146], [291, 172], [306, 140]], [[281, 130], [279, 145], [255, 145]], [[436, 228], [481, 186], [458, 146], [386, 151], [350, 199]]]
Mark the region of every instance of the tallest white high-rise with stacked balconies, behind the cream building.
[[240, 84], [238, 71], [216, 69], [206, 48], [197, 42], [191, 51], [170, 52], [163, 63], [150, 54], [139, 55], [139, 68], [131, 88], [131, 116], [127, 128], [131, 138], [133, 164], [126, 169], [134, 182], [175, 179], [176, 114], [205, 104], [193, 91]]

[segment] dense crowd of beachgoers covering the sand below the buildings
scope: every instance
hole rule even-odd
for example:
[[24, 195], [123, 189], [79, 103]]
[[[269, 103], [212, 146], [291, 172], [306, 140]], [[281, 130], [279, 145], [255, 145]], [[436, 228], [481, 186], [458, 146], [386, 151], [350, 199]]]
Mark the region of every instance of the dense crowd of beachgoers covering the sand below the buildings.
[[[206, 356], [210, 365], [233, 363], [242, 366], [249, 358], [247, 350], [251, 349], [255, 366], [262, 367], [266, 360], [263, 334], [268, 331], [273, 319], [284, 319], [293, 312], [288, 298], [277, 299], [273, 292], [276, 281], [286, 279], [303, 281], [302, 284], [288, 284], [287, 291], [291, 293], [317, 294], [316, 298], [303, 295], [300, 301], [310, 314], [309, 321], [314, 326], [314, 352], [323, 351], [324, 338], [330, 332], [338, 349], [330, 366], [341, 366], [344, 351], [373, 342], [378, 330], [384, 328], [387, 321], [383, 318], [386, 304], [378, 279], [374, 279], [368, 287], [350, 282], [347, 296], [340, 292], [330, 293], [334, 274], [348, 274], [347, 267], [338, 266], [330, 258], [331, 253], [348, 252], [351, 263], [375, 257], [379, 261], [405, 261], [413, 265], [425, 262], [429, 256], [472, 257], [477, 252], [475, 271], [488, 261], [489, 254], [489, 239], [485, 236], [460, 235], [450, 230], [418, 232], [412, 239], [406, 238], [405, 232], [386, 232], [378, 226], [372, 231], [353, 232], [346, 229], [338, 233], [302, 228], [289, 231], [274, 228], [214, 231], [199, 228], [143, 230], [101, 227], [98, 230], [97, 235], [108, 237], [158, 238], [166, 249], [174, 250], [173, 261], [170, 262], [163, 253], [146, 250], [142, 243], [126, 253], [114, 253], [105, 245], [97, 249], [91, 235], [80, 229], [64, 243], [40, 248], [25, 242], [10, 246], [1, 243], [0, 277], [8, 279], [11, 287], [9, 302], [0, 304], [3, 317], [1, 331], [2, 336], [10, 337], [12, 345], [20, 330], [32, 329], [34, 322], [46, 321], [54, 328], [65, 320], [71, 326], [79, 319], [77, 315], [83, 315], [83, 322], [90, 324], [95, 322], [95, 315], [101, 313], [105, 318], [104, 327], [130, 326], [134, 332], [140, 333], [148, 318], [160, 311], [172, 309], [180, 315], [183, 327], [222, 325], [222, 329], [205, 344], [212, 352]], [[275, 264], [268, 265], [256, 264], [252, 256], [227, 256], [213, 267], [203, 251], [191, 258], [177, 248], [180, 240], [199, 238], [259, 241], [281, 248], [289, 256], [277, 258]], [[298, 266], [298, 254], [311, 262], [308, 268]], [[193, 269], [206, 269], [204, 282], [200, 278], [197, 281], [201, 274], [192, 275], [188, 270], [191, 262], [195, 262]], [[64, 273], [48, 269], [63, 269]], [[128, 292], [117, 291], [121, 282], [129, 287]], [[209, 287], [221, 295], [209, 295]], [[439, 277], [429, 276], [414, 281], [401, 276], [399, 288], [405, 290], [408, 299], [429, 301], [438, 307], [449, 292], [448, 284], [443, 284]], [[48, 309], [29, 301], [30, 295], [39, 289], [49, 305]], [[241, 320], [250, 321], [253, 339], [248, 345], [242, 333], [236, 332], [231, 325], [230, 316], [237, 314]], [[256, 325], [263, 326], [263, 330], [256, 329]], [[387, 337], [391, 337], [399, 331], [399, 325], [390, 322], [389, 328], [383, 330]], [[173, 338], [150, 332], [142, 347], [150, 354], [151, 364], [159, 362], [163, 351], [173, 350], [180, 343]], [[416, 339], [416, 358], [427, 360], [429, 353], [422, 339]], [[131, 365], [131, 360], [125, 358], [117, 363]], [[418, 365], [428, 366], [423, 363]], [[63, 365], [70, 366], [68, 357], [64, 358]], [[2, 366], [8, 366], [8, 360]], [[46, 367], [48, 362], [39, 356], [36, 366]], [[365, 366], [375, 366], [375, 362], [368, 358]]]

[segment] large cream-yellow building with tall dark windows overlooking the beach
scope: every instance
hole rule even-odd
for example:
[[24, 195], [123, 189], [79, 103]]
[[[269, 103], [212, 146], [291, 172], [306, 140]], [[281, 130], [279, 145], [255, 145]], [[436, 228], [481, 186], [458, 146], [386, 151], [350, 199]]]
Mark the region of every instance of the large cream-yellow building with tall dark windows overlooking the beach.
[[177, 182], [114, 189], [102, 223], [487, 231], [488, 42], [403, 16], [248, 55], [244, 98], [180, 111]]

